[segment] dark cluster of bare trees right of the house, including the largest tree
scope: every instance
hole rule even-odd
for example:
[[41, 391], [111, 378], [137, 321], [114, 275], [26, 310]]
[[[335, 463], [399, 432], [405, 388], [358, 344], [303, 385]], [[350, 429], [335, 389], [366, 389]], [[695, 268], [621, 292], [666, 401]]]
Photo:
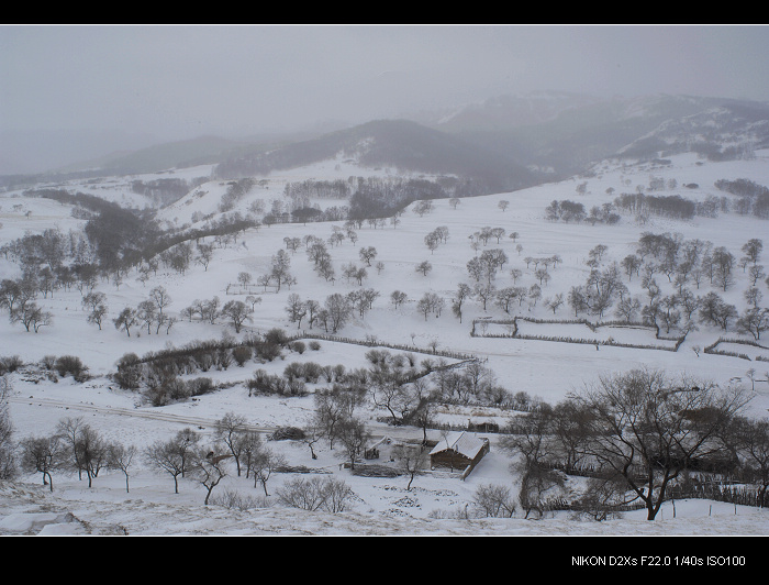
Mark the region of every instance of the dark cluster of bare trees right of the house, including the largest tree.
[[519, 501], [542, 514], [566, 471], [590, 477], [575, 507], [597, 519], [640, 503], [654, 520], [673, 485], [707, 474], [738, 475], [767, 505], [769, 426], [742, 416], [748, 400], [739, 388], [660, 371], [601, 376], [502, 438], [516, 457]]

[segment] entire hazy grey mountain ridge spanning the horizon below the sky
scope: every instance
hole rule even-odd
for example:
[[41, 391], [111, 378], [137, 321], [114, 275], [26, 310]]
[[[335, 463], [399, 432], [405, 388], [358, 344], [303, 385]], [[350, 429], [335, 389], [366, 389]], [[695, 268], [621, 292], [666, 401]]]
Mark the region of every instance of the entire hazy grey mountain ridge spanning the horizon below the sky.
[[347, 157], [368, 167], [455, 175], [491, 192], [561, 179], [610, 157], [696, 152], [727, 158], [767, 146], [766, 102], [542, 91], [500, 96], [430, 119], [375, 120], [315, 135], [202, 136], [91, 161], [78, 173], [124, 175], [211, 164], [218, 177], [235, 178]]

